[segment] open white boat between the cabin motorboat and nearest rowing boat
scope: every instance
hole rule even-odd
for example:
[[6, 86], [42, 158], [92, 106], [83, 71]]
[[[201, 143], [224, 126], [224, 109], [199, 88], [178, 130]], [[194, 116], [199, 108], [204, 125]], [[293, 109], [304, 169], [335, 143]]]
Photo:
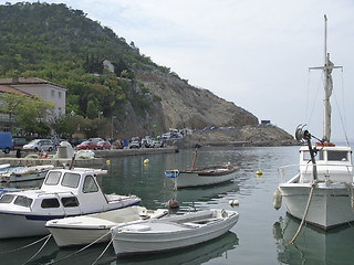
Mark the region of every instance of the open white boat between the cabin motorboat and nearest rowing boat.
[[55, 219], [48, 221], [45, 226], [60, 247], [88, 245], [108, 242], [110, 229], [121, 223], [159, 219], [167, 213], [168, 210], [165, 209], [147, 210], [143, 206], [129, 206], [82, 216]]

